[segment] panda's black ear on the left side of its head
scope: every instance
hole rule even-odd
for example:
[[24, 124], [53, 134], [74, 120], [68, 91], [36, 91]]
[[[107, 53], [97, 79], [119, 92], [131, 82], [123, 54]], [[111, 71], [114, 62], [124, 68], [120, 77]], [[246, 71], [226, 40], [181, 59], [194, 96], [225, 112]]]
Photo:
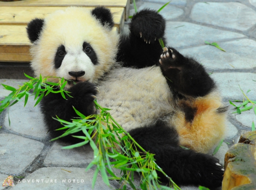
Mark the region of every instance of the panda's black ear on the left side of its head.
[[35, 18], [28, 23], [27, 33], [30, 42], [34, 42], [39, 38], [39, 34], [42, 31], [44, 20], [41, 18]]

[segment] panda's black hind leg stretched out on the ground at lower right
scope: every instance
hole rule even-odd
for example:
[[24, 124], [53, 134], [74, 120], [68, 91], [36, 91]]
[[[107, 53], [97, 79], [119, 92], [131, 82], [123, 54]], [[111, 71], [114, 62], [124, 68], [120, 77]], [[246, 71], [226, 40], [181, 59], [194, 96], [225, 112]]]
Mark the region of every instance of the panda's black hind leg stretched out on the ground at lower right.
[[[221, 186], [223, 168], [219, 160], [206, 154], [183, 149], [178, 145], [178, 134], [164, 122], [131, 130], [130, 135], [146, 151], [155, 154], [156, 163], [179, 185]], [[158, 172], [161, 182], [167, 178]]]

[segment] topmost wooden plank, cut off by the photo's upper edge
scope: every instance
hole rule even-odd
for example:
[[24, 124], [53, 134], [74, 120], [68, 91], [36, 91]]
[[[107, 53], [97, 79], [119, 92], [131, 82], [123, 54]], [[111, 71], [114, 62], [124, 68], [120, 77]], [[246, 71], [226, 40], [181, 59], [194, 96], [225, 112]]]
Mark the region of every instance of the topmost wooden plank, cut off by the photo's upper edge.
[[123, 7], [125, 19], [128, 18], [130, 0], [22, 0], [15, 2], [1, 2], [0, 6], [22, 6], [22, 7]]

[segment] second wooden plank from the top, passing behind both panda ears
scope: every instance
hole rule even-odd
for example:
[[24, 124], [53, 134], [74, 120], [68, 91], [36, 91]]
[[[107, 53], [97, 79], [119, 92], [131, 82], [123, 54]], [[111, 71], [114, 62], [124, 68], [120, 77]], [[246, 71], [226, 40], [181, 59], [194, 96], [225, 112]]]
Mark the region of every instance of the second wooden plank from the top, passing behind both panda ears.
[[[94, 7], [85, 7], [93, 9]], [[48, 14], [65, 7], [0, 7], [0, 25], [27, 25], [33, 18], [45, 18]], [[124, 22], [123, 7], [109, 7], [115, 27]], [[121, 27], [122, 28], [122, 27]]]

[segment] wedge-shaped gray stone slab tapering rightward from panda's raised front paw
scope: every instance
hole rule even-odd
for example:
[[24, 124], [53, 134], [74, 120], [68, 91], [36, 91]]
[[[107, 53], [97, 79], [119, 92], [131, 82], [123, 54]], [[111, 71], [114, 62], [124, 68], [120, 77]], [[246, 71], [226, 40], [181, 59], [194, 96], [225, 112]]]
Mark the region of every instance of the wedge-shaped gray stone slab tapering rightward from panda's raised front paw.
[[246, 37], [243, 34], [218, 30], [189, 22], [167, 22], [165, 36], [169, 46], [182, 48], [204, 45], [204, 41], [214, 42]]

